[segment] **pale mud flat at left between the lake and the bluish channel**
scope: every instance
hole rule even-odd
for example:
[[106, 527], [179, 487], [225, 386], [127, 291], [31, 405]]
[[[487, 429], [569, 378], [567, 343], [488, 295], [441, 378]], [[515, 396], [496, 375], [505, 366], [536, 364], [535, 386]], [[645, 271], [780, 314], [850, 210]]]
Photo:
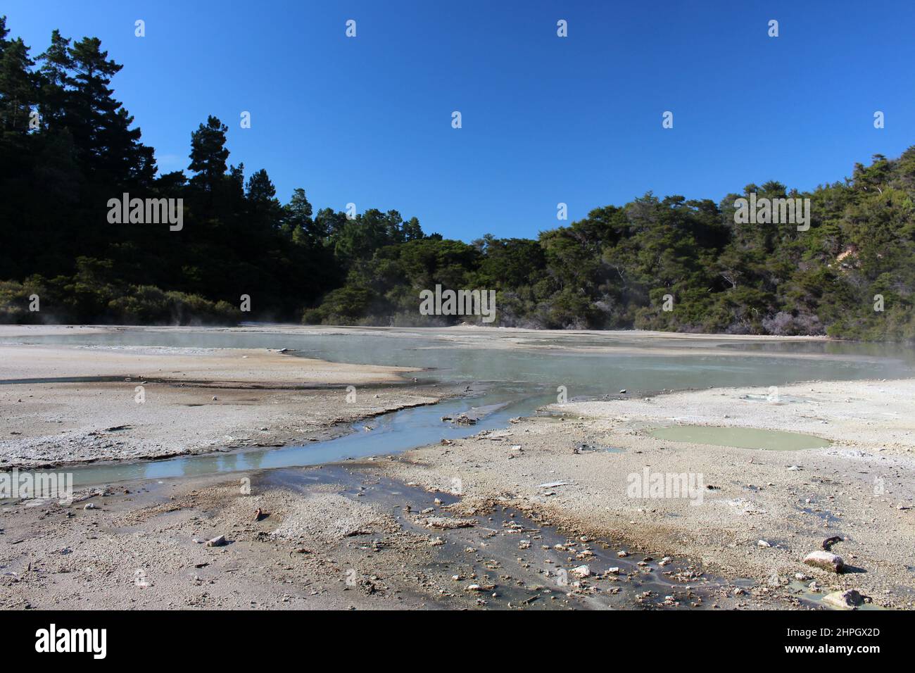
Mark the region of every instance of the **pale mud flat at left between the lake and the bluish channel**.
[[265, 349], [4, 345], [0, 468], [327, 439], [447, 395], [408, 387], [411, 371]]

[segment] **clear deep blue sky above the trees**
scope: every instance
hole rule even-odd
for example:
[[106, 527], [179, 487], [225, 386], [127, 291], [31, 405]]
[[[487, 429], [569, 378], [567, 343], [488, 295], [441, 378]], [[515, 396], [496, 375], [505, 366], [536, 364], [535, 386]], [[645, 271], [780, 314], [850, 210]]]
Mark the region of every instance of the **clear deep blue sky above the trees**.
[[915, 144], [912, 0], [4, 0], [0, 14], [33, 55], [55, 27], [101, 38], [160, 170], [187, 168], [190, 132], [216, 114], [230, 161], [266, 168], [282, 201], [303, 187], [316, 209], [393, 208], [466, 241], [534, 237], [560, 224], [559, 201], [571, 222], [648, 190], [812, 189]]

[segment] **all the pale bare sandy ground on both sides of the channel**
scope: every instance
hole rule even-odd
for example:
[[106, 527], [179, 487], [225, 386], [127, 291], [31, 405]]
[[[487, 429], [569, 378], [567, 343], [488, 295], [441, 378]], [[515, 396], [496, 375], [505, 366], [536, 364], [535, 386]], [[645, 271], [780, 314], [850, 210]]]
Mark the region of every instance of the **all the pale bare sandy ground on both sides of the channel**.
[[[0, 341], [61, 329], [0, 328]], [[567, 332], [440, 332], [456, 347], [576, 347]], [[641, 336], [691, 341], [610, 339]], [[5, 381], [108, 379], [0, 385], [0, 467], [298, 443], [456, 392], [410, 385], [409, 371], [265, 350], [0, 346]], [[380, 457], [356, 476], [299, 468], [246, 475], [250, 492], [220, 474], [115, 485], [72, 505], [7, 502], [0, 605], [786, 608], [854, 588], [872, 605], [911, 608], [913, 393], [915, 381], [817, 382], [782, 386], [778, 401], [747, 387], [572, 403]], [[672, 424], [834, 444], [764, 451], [648, 434]], [[701, 477], [705, 490], [633, 496], [630, 475], [646, 468]], [[255, 520], [257, 509], [268, 516]], [[469, 523], [436, 526], [438, 516]], [[218, 535], [228, 544], [203, 544]], [[833, 536], [848, 571], [802, 564]], [[591, 574], [576, 580], [583, 564]]]

